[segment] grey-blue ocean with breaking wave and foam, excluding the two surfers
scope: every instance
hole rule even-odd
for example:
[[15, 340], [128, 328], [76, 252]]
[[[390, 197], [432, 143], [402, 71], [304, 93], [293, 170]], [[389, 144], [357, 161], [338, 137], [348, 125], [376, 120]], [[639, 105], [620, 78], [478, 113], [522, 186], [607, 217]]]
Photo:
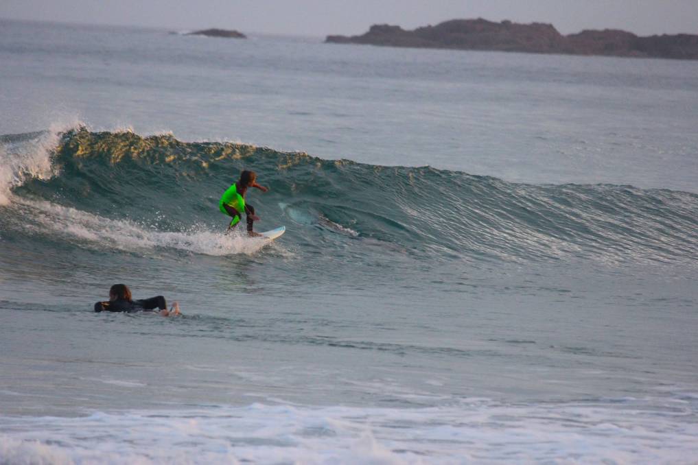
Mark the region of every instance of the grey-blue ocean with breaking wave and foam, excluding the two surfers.
[[698, 62], [183, 32], [0, 20], [0, 464], [698, 463]]

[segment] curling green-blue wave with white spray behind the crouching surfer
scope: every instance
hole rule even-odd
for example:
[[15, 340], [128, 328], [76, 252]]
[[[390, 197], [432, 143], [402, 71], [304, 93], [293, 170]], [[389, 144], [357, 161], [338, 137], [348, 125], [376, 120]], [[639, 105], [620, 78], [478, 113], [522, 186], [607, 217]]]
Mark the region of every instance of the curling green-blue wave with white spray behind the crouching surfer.
[[698, 261], [698, 195], [627, 185], [526, 185], [431, 167], [322, 160], [230, 142], [133, 132], [0, 137], [0, 237], [128, 252], [255, 252], [224, 238], [218, 198], [242, 169], [249, 201], [299, 247], [364, 240], [417, 257]]

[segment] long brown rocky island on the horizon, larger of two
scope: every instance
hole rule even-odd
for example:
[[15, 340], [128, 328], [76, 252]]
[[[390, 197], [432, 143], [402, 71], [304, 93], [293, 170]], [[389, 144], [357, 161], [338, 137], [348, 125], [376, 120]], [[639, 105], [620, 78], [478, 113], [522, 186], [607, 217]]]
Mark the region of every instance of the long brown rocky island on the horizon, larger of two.
[[375, 24], [363, 36], [327, 36], [327, 43], [358, 43], [388, 47], [500, 50], [503, 52], [574, 55], [639, 56], [698, 59], [698, 36], [676, 34], [639, 37], [626, 31], [581, 31], [563, 36], [552, 24], [511, 21], [451, 20], [406, 31]]

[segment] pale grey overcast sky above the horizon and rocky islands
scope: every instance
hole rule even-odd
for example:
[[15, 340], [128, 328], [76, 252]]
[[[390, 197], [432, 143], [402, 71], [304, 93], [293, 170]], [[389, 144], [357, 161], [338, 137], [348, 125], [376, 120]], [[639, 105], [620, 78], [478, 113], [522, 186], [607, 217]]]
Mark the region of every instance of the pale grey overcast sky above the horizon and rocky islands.
[[299, 36], [484, 17], [549, 22], [565, 34], [612, 28], [645, 36], [698, 33], [698, 0], [0, 0], [0, 17]]

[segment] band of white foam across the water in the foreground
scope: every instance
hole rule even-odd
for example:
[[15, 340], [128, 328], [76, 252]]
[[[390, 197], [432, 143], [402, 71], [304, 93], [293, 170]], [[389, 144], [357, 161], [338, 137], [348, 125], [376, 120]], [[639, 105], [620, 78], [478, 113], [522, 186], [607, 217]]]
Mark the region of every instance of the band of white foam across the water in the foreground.
[[0, 455], [16, 463], [654, 464], [698, 456], [695, 406], [662, 411], [642, 402], [251, 404], [0, 416], [0, 430]]

